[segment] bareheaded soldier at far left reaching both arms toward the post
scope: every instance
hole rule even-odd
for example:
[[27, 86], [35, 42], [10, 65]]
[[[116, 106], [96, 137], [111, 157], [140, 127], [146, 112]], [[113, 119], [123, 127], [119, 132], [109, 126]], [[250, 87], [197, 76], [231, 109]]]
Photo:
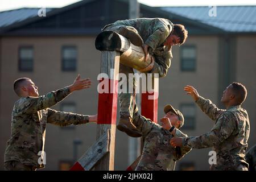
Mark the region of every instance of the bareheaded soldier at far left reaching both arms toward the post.
[[15, 102], [11, 115], [11, 138], [5, 151], [6, 170], [44, 167], [46, 123], [67, 126], [97, 122], [97, 115], [65, 113], [48, 108], [75, 90], [89, 88], [90, 84], [89, 79], [81, 80], [78, 76], [72, 85], [38, 97], [38, 87], [30, 78], [19, 78], [14, 82], [14, 91], [20, 99]]

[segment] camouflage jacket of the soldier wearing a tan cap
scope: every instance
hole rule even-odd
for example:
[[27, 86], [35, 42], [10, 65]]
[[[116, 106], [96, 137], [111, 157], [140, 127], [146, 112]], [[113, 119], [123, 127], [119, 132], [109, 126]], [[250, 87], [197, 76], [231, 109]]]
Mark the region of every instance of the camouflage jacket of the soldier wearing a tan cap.
[[[171, 171], [175, 168], [176, 160], [183, 158], [191, 148], [181, 147], [174, 148], [170, 144], [170, 140], [174, 137], [169, 131], [163, 129], [162, 126], [146, 119], [142, 115], [133, 118], [133, 123], [137, 129], [142, 132], [144, 140], [144, 148], [141, 159], [136, 171]], [[175, 137], [187, 137], [180, 130], [176, 130]]]

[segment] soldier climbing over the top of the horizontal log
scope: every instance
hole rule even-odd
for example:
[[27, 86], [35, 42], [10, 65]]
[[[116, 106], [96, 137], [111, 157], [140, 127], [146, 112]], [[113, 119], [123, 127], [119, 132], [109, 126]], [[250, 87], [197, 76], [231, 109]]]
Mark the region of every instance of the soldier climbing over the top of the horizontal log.
[[[159, 77], [167, 74], [171, 65], [171, 47], [181, 45], [187, 39], [187, 30], [181, 24], [173, 24], [164, 18], [137, 18], [129, 20], [119, 20], [108, 24], [102, 31], [114, 31], [125, 36], [135, 46], [142, 46], [145, 57], [150, 56], [152, 63], [147, 68], [140, 70], [146, 73], [158, 73]], [[144, 44], [143, 44], [144, 42]], [[145, 58], [146, 59], [146, 58]], [[136, 82], [129, 81], [129, 73], [134, 73], [133, 68], [123, 64], [119, 65], [119, 73], [125, 73], [127, 82], [127, 93], [119, 93], [120, 120], [117, 129], [124, 131], [131, 137], [141, 137], [141, 133], [131, 122], [135, 99]], [[128, 92], [128, 88], [133, 86], [133, 93]]]

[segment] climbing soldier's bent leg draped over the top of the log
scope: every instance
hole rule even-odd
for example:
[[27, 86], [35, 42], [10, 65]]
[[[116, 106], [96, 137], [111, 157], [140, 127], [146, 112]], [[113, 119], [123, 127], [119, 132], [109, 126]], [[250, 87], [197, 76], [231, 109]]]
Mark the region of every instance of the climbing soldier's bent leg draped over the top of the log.
[[104, 28], [102, 28], [102, 31], [114, 31], [118, 34], [126, 37], [130, 40], [132, 44], [135, 46], [142, 46], [143, 39], [138, 34], [138, 31], [134, 27], [130, 26], [123, 26], [119, 24], [108, 24]]

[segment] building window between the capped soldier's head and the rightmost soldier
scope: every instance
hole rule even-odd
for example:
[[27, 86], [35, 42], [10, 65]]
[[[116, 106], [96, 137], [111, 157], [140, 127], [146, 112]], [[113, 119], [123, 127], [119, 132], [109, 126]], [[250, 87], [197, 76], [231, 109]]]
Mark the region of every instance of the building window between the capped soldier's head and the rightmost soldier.
[[195, 104], [181, 104], [180, 111], [184, 116], [184, 125], [182, 129], [194, 130], [196, 128]]

